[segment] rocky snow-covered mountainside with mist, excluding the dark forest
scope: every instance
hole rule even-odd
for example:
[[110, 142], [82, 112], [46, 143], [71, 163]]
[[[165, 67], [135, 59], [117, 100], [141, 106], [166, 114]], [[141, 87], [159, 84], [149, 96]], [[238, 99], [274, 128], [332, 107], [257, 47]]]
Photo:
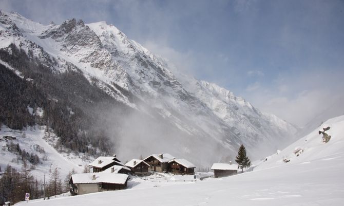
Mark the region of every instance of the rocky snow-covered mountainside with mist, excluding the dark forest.
[[0, 41], [9, 55], [14, 44], [53, 73], [80, 71], [90, 85], [131, 108], [108, 108], [99, 127], [128, 160], [168, 152], [206, 166], [233, 160], [240, 144], [250, 155], [267, 155], [297, 131], [216, 84], [172, 73], [173, 65], [105, 22], [42, 25], [1, 11]]

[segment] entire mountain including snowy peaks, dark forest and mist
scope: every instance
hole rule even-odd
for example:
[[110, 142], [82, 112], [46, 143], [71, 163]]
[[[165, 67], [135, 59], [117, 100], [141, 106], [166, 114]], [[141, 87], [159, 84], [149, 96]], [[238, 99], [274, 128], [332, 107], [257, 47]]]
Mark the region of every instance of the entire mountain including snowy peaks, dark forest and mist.
[[173, 65], [105, 22], [42, 25], [1, 11], [0, 38], [0, 79], [9, 82], [1, 87], [1, 123], [47, 125], [74, 151], [123, 160], [170, 153], [206, 167], [233, 161], [240, 144], [256, 159], [296, 138], [292, 124], [216, 84], [171, 72]]

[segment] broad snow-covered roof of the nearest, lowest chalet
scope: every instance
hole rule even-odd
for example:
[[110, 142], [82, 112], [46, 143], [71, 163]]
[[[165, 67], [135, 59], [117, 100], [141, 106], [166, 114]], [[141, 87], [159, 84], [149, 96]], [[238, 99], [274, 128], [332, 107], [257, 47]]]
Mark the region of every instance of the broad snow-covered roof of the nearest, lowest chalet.
[[[93, 175], [95, 178], [93, 178]], [[74, 184], [85, 184], [85, 183], [112, 183], [112, 184], [125, 184], [128, 179], [126, 174], [118, 173], [82, 173], [72, 175]]]

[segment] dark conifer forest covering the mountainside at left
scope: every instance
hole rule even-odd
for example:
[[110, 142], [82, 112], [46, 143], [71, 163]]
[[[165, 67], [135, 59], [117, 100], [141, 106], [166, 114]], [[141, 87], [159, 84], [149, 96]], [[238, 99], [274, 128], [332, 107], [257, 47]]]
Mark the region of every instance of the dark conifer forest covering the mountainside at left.
[[[32, 46], [36, 45], [33, 43]], [[69, 64], [67, 71], [58, 72], [52, 68], [55, 60], [49, 59], [47, 54], [47, 57], [43, 55], [46, 58], [43, 62], [51, 67], [33, 58], [32, 52], [28, 53], [13, 44], [0, 49], [0, 59], [24, 77], [18, 77], [0, 64], [0, 96], [3, 98], [0, 101], [0, 124], [12, 129], [48, 125], [61, 137], [58, 144], [72, 151], [94, 155], [97, 153], [95, 148], [99, 148], [104, 153], [111, 152], [113, 144], [104, 132], [106, 128], [93, 125], [105, 125], [102, 115], [111, 108], [125, 111], [129, 107], [91, 85], [77, 67]], [[34, 110], [43, 108], [43, 117], [30, 115], [28, 106]]]

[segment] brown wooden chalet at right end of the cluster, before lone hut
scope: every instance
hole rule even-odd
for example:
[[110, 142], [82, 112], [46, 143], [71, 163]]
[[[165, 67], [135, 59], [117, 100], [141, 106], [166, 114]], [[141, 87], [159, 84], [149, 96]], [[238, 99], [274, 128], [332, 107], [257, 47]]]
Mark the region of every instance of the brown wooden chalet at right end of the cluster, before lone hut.
[[194, 175], [196, 166], [185, 159], [173, 159], [168, 162], [169, 172], [181, 175]]

